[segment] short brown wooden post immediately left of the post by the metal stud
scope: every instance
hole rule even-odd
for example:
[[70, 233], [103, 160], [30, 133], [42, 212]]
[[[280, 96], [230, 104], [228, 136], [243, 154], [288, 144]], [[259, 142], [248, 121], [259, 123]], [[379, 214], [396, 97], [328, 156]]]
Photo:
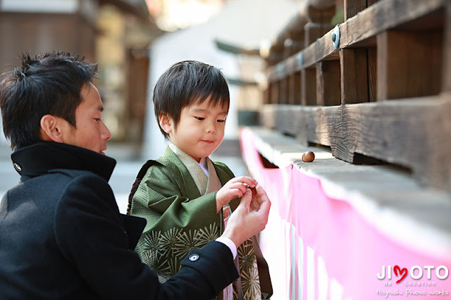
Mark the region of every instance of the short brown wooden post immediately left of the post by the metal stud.
[[340, 62], [321, 61], [316, 63], [316, 104], [340, 105]]

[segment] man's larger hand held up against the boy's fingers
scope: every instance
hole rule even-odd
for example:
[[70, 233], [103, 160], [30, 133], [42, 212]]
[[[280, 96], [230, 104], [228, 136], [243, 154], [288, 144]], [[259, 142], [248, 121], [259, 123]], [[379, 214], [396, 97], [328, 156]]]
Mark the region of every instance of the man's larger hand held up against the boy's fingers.
[[254, 195], [250, 188], [247, 189], [240, 205], [230, 215], [222, 236], [240, 246], [246, 239], [264, 230], [268, 223], [269, 208], [271, 201], [263, 188], [257, 185]]

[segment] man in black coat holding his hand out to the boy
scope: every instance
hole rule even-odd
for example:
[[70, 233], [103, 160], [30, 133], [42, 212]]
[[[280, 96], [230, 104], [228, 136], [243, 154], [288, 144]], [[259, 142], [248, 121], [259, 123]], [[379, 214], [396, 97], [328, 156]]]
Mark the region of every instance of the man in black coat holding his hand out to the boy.
[[233, 248], [264, 229], [271, 203], [247, 190], [216, 241], [164, 284], [134, 248], [142, 218], [122, 215], [116, 161], [92, 84], [97, 65], [54, 52], [23, 56], [0, 80], [4, 134], [20, 182], [0, 204], [0, 299], [212, 299], [237, 278]]

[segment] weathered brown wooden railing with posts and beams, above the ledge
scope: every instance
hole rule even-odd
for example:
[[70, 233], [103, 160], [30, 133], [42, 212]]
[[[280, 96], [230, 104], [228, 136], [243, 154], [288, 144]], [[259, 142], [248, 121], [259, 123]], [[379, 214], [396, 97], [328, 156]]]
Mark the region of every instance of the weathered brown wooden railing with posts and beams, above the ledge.
[[266, 58], [263, 123], [451, 191], [450, 1], [368, 2], [345, 0], [335, 29], [335, 1], [309, 1], [290, 20]]

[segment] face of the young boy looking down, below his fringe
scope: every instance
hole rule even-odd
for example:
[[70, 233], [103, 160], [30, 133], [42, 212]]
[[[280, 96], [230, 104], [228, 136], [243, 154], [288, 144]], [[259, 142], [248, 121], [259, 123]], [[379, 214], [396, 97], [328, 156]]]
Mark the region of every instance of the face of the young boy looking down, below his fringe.
[[177, 125], [168, 116], [160, 115], [159, 121], [171, 142], [199, 162], [223, 142], [227, 114], [227, 106], [210, 106], [206, 99], [183, 108]]

